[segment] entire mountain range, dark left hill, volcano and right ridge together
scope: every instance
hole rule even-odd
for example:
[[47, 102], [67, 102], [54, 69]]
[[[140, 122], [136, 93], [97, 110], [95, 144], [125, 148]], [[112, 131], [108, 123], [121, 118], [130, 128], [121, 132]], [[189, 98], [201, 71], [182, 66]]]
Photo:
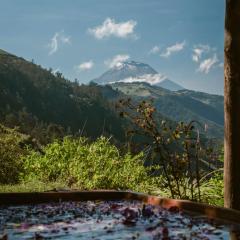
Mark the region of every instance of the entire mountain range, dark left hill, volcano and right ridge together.
[[162, 118], [196, 120], [209, 137], [223, 138], [223, 96], [184, 89], [148, 64], [134, 61], [92, 82], [97, 84], [79, 85], [52, 69], [0, 50], [0, 123], [18, 126], [42, 141], [49, 131], [93, 138], [105, 133], [123, 141], [126, 123], [114, 104], [131, 97], [154, 99]]

